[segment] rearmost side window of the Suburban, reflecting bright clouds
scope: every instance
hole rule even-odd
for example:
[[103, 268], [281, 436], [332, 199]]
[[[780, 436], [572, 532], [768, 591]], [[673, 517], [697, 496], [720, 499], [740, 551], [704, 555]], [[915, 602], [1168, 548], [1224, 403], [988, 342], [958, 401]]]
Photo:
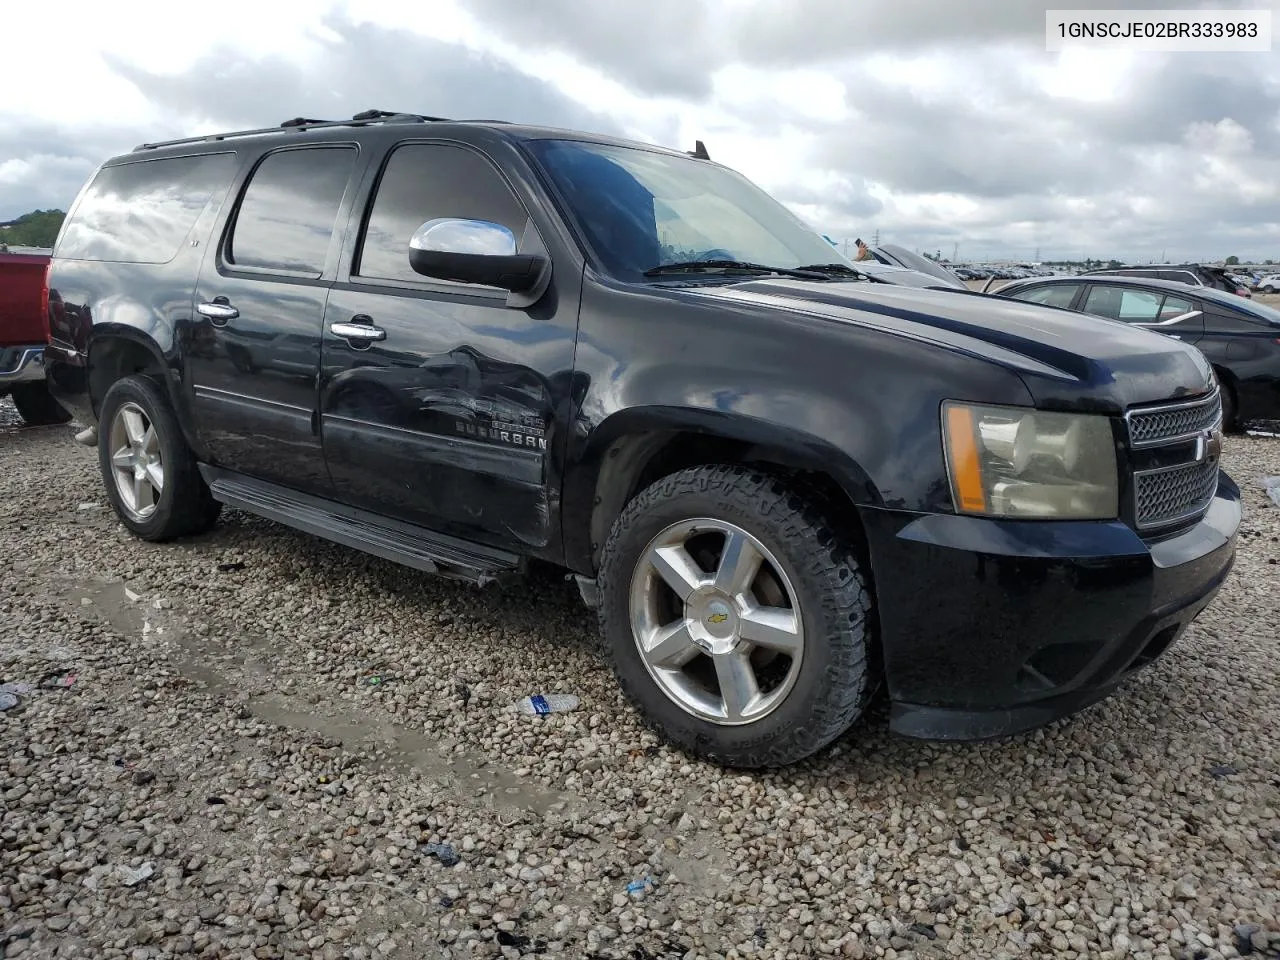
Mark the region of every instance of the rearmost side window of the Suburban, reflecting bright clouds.
[[210, 197], [236, 172], [234, 154], [140, 160], [104, 166], [68, 220], [56, 256], [166, 264]]

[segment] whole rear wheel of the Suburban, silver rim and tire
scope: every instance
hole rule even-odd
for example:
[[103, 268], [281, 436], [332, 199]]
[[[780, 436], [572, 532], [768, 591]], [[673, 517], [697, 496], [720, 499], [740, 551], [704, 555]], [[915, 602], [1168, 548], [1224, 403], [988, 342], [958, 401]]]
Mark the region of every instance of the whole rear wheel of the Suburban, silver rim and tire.
[[120, 521], [143, 540], [204, 532], [221, 504], [209, 493], [169, 398], [155, 380], [127, 376], [106, 392], [99, 465]]

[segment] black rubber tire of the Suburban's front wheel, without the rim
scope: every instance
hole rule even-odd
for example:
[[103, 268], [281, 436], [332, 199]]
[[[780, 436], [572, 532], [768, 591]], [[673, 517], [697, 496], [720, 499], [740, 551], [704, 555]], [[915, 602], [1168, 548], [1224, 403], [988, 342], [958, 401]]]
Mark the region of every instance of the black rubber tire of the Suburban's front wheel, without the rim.
[[[742, 726], [701, 719], [650, 677], [631, 628], [631, 579], [648, 544], [682, 520], [728, 521], [785, 567], [804, 623], [800, 673], [772, 713]], [[713, 763], [767, 768], [829, 745], [861, 716], [872, 676], [872, 595], [847, 534], [782, 479], [739, 466], [700, 466], [658, 480], [613, 524], [600, 554], [600, 636], [623, 692], [666, 740]]]

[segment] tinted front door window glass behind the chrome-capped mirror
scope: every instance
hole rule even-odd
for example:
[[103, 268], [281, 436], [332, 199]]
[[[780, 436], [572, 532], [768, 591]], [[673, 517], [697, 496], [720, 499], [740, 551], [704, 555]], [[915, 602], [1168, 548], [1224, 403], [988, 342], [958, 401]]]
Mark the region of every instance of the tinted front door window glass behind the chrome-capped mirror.
[[428, 278], [408, 265], [408, 241], [419, 227], [439, 216], [490, 220], [517, 239], [529, 219], [516, 195], [480, 154], [443, 143], [406, 143], [392, 152], [383, 170], [355, 273], [422, 283]]

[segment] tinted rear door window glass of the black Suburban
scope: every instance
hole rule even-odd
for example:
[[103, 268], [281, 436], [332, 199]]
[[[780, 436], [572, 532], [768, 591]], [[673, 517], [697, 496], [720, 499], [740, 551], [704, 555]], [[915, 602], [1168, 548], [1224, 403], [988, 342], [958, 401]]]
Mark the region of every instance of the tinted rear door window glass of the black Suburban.
[[355, 165], [349, 147], [270, 154], [244, 191], [227, 260], [319, 276]]

